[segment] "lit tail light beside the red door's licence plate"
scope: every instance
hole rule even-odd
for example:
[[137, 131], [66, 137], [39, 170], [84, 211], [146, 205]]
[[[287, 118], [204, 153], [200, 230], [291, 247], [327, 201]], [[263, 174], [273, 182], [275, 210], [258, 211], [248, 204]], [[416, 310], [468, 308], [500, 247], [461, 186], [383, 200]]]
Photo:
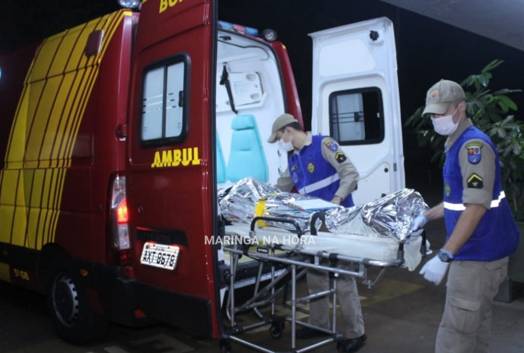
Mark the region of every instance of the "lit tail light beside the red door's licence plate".
[[[126, 178], [117, 175], [113, 180], [110, 207], [111, 245], [115, 250], [130, 248], [128, 221]], [[124, 257], [127, 259], [127, 256]]]

